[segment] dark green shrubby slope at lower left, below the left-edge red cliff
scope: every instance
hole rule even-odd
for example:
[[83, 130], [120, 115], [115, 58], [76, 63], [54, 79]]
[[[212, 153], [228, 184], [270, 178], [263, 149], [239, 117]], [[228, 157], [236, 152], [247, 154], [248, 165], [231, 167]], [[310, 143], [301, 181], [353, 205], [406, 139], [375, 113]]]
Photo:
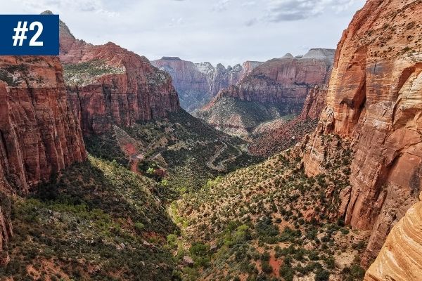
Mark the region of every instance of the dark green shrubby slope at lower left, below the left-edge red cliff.
[[[166, 237], [179, 231], [151, 179], [89, 157], [13, 204], [14, 280], [170, 280]], [[49, 279], [46, 279], [49, 278]]]

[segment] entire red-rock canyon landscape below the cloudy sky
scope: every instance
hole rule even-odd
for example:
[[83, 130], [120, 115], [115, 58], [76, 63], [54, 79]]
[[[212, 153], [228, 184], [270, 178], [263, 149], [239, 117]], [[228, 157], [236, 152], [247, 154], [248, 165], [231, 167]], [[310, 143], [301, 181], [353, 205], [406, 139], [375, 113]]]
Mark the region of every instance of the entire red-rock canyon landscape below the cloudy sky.
[[421, 280], [421, 31], [368, 0], [335, 51], [226, 69], [60, 22], [0, 58], [0, 279]]

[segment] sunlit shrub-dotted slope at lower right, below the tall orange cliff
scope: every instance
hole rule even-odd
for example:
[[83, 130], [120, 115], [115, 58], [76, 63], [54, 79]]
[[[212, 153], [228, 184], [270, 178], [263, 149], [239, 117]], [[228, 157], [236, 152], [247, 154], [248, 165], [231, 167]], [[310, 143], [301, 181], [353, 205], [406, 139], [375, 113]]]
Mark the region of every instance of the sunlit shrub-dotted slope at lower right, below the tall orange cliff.
[[[341, 142], [338, 136], [328, 138]], [[214, 246], [207, 266], [191, 268], [182, 277], [328, 280], [330, 275], [342, 275], [360, 280], [359, 261], [353, 257], [362, 248], [349, 241], [363, 243], [366, 237], [345, 228], [338, 217], [340, 190], [349, 185], [347, 147], [340, 143], [337, 157], [327, 157], [331, 174], [307, 177], [298, 151], [288, 150], [184, 195], [170, 209], [183, 229], [179, 239]], [[346, 266], [339, 262], [344, 256], [352, 257]], [[354, 273], [345, 268], [354, 268]]]

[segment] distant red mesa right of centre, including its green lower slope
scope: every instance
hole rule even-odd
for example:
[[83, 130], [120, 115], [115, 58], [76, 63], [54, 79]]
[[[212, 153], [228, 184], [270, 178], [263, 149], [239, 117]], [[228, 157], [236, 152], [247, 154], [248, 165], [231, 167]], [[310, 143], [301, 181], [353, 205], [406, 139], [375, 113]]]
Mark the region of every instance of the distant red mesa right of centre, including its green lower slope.
[[269, 60], [237, 85], [220, 91], [195, 114], [226, 133], [245, 136], [262, 122], [300, 114], [308, 97], [304, 119], [308, 114], [314, 119], [324, 107], [323, 95], [317, 94], [323, 93], [319, 89], [328, 82], [333, 60], [334, 50], [322, 48], [311, 49], [301, 58], [286, 54]]

